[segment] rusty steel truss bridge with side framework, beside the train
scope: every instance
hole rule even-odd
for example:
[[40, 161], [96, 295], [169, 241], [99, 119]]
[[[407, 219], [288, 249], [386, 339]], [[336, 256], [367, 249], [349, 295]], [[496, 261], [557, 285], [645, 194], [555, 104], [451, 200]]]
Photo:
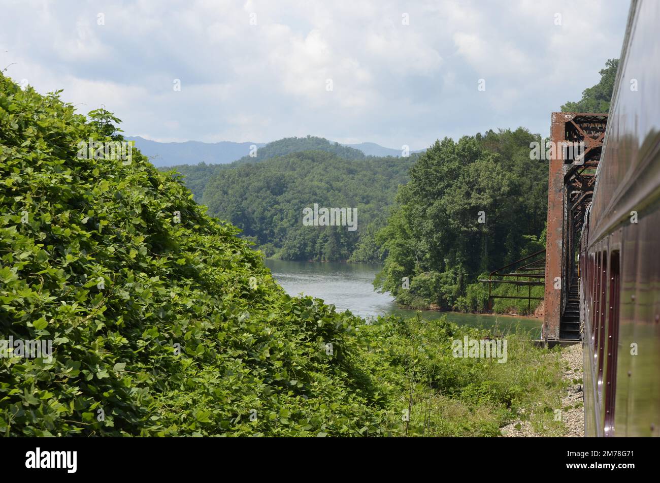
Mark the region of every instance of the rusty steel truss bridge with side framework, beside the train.
[[[606, 125], [607, 114], [552, 113], [546, 248], [480, 280], [488, 283], [489, 309], [494, 298], [524, 299], [528, 309], [532, 300], [543, 300], [545, 344], [581, 339], [578, 240], [593, 198]], [[515, 296], [494, 295], [492, 287], [497, 284], [527, 290]], [[533, 286], [545, 286], [544, 296], [532, 296]]]

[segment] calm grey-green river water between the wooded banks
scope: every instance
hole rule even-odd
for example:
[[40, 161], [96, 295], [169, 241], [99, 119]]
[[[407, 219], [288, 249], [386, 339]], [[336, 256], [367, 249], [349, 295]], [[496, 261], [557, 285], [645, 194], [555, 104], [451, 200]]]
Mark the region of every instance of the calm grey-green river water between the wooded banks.
[[[304, 293], [320, 298], [326, 304], [334, 304], [337, 311], [348, 309], [364, 318], [389, 313], [404, 316], [415, 314], [414, 310], [397, 307], [389, 294], [380, 294], [374, 290], [372, 282], [381, 265], [281, 260], [266, 260], [266, 265], [286, 293]], [[530, 317], [422, 311], [422, 317], [425, 319], [439, 319], [442, 315], [459, 325], [484, 329], [498, 327], [501, 331], [517, 329], [531, 332], [534, 337], [541, 335], [541, 320]]]

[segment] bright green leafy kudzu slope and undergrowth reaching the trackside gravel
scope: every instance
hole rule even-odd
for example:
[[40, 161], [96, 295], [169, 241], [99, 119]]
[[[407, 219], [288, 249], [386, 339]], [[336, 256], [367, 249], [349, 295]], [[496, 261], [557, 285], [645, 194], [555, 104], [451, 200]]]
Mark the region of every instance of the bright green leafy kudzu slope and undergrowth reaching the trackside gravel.
[[0, 339], [53, 342], [2, 354], [0, 434], [497, 435], [523, 412], [561, 432], [556, 352], [455, 358], [484, 334], [286, 295], [138, 150], [78, 155], [118, 123], [0, 75]]

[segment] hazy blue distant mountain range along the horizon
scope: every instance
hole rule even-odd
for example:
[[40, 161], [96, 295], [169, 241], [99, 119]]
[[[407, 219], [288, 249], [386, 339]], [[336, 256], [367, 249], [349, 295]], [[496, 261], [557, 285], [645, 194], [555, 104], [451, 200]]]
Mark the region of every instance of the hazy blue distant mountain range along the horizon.
[[[127, 141], [135, 141], [135, 147], [141, 150], [142, 154], [149, 156], [152, 164], [157, 167], [198, 164], [200, 162], [205, 162], [206, 164], [228, 164], [248, 156], [250, 146], [257, 146], [257, 150], [266, 146], [265, 143], [234, 143], [232, 141], [221, 141], [220, 143], [202, 143], [201, 141], [159, 143], [158, 141], [151, 141], [150, 139], [139, 136], [126, 136], [125, 139]], [[273, 145], [273, 143], [269, 144]], [[360, 150], [366, 156], [401, 156], [401, 150], [385, 148], [376, 143], [343, 146]]]

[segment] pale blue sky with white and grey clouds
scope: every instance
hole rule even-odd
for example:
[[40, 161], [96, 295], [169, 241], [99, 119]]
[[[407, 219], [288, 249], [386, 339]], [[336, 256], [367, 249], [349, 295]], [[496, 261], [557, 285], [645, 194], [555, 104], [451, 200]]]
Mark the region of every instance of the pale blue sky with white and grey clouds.
[[618, 58], [624, 0], [1, 0], [0, 70], [125, 135], [424, 149], [527, 127]]

